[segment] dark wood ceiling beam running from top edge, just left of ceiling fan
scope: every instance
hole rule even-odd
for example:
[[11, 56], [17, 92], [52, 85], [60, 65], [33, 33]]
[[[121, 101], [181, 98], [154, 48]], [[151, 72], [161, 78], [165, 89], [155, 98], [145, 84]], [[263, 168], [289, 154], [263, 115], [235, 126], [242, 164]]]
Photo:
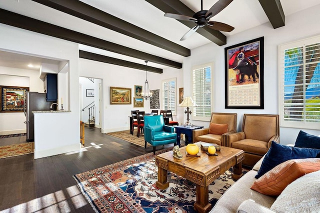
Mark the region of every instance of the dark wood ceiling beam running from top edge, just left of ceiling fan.
[[190, 49], [167, 40], [159, 35], [126, 22], [100, 9], [79, 0], [33, 0], [51, 8], [60, 10], [78, 18], [90, 21], [113, 31], [125, 34], [135, 39], [150, 43], [182, 56], [190, 56]]

